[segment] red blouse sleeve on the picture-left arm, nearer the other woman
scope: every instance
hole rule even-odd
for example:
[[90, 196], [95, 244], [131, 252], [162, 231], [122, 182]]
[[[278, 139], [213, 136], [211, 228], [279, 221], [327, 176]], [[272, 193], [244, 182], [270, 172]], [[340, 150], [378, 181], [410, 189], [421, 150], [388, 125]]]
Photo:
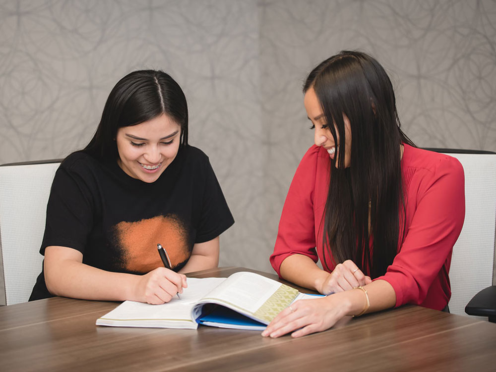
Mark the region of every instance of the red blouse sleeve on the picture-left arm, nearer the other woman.
[[313, 192], [319, 147], [312, 146], [296, 169], [289, 187], [279, 221], [274, 253], [270, 264], [280, 276], [280, 267], [286, 257], [300, 254], [317, 262], [313, 214]]

